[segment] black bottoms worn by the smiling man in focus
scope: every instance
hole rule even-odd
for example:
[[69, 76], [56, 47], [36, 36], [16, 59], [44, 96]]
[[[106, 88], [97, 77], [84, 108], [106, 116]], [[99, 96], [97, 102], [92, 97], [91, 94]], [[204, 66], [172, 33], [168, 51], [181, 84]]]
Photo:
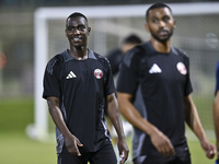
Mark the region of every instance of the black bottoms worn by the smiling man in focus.
[[96, 152], [81, 153], [81, 156], [70, 153], [58, 154], [58, 164], [116, 164], [116, 154], [111, 144]]

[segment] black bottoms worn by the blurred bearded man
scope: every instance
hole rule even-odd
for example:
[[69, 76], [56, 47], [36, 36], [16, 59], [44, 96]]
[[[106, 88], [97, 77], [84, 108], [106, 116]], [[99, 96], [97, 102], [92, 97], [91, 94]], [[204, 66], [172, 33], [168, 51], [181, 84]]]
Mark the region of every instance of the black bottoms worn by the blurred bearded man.
[[175, 148], [175, 154], [170, 157], [158, 155], [141, 155], [134, 159], [134, 164], [191, 164], [191, 153], [187, 144]]

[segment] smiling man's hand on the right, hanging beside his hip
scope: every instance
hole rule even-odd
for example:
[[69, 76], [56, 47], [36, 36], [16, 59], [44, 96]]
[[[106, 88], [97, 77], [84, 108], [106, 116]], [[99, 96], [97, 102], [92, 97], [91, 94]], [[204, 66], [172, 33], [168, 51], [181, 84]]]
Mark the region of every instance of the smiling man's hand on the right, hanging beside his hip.
[[129, 153], [129, 149], [125, 139], [118, 139], [117, 147], [118, 147], [119, 157], [122, 159], [119, 163], [124, 164], [128, 159], [128, 153]]

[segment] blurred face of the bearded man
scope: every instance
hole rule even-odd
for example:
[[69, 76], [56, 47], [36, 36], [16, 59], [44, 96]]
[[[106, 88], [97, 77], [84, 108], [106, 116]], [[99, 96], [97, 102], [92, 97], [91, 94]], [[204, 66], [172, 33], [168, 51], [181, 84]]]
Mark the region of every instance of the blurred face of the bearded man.
[[166, 43], [173, 35], [175, 21], [168, 8], [151, 9], [148, 13], [146, 30], [152, 38]]

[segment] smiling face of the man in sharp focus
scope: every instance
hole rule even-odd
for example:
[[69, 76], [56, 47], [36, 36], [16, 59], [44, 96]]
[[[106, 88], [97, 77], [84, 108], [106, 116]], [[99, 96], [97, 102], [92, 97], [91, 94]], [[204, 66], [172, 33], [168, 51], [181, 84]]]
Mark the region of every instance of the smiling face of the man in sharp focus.
[[87, 46], [90, 31], [88, 21], [83, 16], [73, 16], [66, 21], [66, 36], [68, 37], [70, 46]]

